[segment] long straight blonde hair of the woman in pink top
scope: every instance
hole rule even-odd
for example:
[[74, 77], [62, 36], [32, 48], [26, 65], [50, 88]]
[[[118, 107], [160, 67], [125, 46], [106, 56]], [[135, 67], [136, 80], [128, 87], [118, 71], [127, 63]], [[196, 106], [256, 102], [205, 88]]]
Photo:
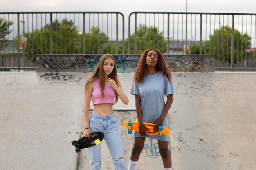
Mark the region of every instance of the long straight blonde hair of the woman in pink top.
[[[101, 88], [101, 97], [103, 98], [105, 95], [104, 95], [104, 87], [105, 87], [105, 72], [104, 72], [104, 62], [106, 59], [112, 59], [114, 61], [114, 69], [113, 71], [108, 75], [108, 78], [111, 78], [113, 80], [115, 80], [117, 86], [119, 88], [121, 88], [121, 84], [118, 80], [118, 77], [117, 77], [117, 66], [116, 66], [116, 63], [115, 63], [115, 58], [113, 57], [113, 55], [111, 54], [104, 54], [101, 56], [100, 60], [99, 60], [99, 63], [97, 64], [94, 72], [92, 73], [92, 75], [87, 79], [86, 81], [86, 84], [85, 84], [85, 89], [88, 88], [89, 84], [91, 82], [93, 82], [95, 79], [99, 78], [99, 86]], [[118, 101], [118, 94], [117, 92], [115, 91], [115, 103], [117, 103]]]

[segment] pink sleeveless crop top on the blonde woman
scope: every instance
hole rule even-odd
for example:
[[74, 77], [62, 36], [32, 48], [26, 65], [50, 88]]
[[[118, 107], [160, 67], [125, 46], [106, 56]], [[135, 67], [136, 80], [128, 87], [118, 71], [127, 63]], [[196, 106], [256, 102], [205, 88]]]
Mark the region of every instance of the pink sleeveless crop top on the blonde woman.
[[95, 79], [94, 89], [92, 91], [92, 104], [100, 103], [112, 103], [114, 104], [115, 91], [114, 89], [105, 83], [104, 98], [101, 97], [101, 88], [99, 86], [99, 78]]

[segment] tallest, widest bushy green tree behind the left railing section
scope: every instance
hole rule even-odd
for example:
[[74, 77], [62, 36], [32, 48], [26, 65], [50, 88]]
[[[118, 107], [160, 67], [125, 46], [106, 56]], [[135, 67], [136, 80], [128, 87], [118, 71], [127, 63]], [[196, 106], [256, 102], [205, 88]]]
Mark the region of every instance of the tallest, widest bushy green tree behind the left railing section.
[[[53, 54], [75, 54], [78, 53], [79, 31], [74, 24], [65, 22], [53, 22], [52, 29], [52, 51]], [[22, 35], [21, 35], [22, 37]], [[25, 33], [26, 46], [24, 49], [29, 60], [35, 60], [36, 54], [50, 54], [50, 25], [45, 25], [42, 29]], [[17, 38], [16, 38], [17, 41]]]

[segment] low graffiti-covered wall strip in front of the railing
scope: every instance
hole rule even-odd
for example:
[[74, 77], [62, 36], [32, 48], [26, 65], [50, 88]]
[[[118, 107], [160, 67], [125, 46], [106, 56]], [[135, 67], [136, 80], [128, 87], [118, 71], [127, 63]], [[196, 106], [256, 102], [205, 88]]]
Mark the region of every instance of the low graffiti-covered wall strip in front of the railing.
[[[93, 72], [101, 55], [36, 55], [36, 72]], [[118, 72], [133, 72], [140, 55], [114, 55]], [[214, 55], [164, 55], [171, 72], [213, 72]]]

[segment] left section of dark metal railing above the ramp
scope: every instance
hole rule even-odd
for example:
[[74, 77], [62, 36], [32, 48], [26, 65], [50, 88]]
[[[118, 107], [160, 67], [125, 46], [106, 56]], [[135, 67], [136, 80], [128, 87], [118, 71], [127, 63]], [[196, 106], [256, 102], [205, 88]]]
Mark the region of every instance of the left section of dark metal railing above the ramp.
[[124, 53], [119, 12], [5, 12], [0, 18], [6, 29], [0, 70], [35, 69], [36, 54]]

